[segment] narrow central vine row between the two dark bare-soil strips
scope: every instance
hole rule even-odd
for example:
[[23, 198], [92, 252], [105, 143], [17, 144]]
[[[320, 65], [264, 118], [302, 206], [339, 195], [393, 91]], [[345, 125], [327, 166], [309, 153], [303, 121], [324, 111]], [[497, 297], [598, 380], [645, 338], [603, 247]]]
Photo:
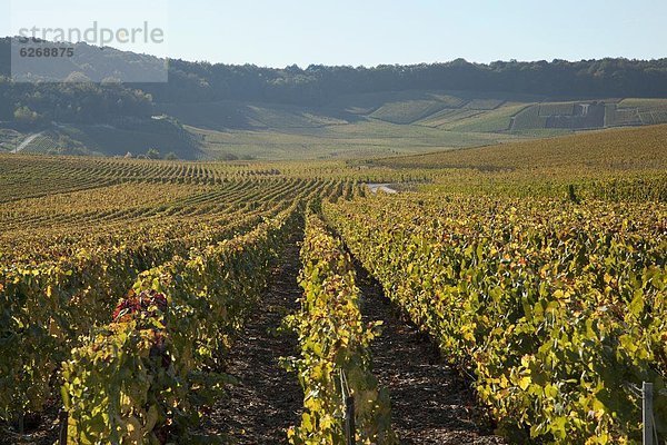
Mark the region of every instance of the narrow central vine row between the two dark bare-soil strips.
[[369, 345], [378, 325], [359, 310], [355, 270], [339, 239], [309, 215], [301, 248], [301, 309], [288, 317], [301, 356], [290, 363], [306, 398], [301, 425], [288, 432], [291, 444], [342, 444], [346, 398], [355, 398], [358, 444], [395, 444], [389, 395], [370, 372]]

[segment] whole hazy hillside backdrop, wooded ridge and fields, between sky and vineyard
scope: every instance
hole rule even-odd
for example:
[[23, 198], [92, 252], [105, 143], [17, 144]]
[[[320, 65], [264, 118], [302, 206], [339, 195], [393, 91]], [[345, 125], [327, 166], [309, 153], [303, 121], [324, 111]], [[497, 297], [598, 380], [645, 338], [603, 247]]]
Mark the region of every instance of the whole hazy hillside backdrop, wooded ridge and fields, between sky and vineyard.
[[[14, 83], [9, 42], [0, 39], [3, 151], [348, 159], [667, 123], [665, 59], [306, 69], [170, 60], [165, 83]], [[165, 62], [76, 48], [100, 69]], [[88, 65], [68, 69], [102, 77]]]

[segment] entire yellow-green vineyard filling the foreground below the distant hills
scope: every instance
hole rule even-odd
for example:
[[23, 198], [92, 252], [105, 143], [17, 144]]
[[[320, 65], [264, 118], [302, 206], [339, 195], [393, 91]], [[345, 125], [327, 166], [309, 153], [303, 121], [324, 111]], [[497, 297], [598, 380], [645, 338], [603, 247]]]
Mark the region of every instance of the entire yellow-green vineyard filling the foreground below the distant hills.
[[0, 443], [663, 444], [665, 131], [0, 155]]

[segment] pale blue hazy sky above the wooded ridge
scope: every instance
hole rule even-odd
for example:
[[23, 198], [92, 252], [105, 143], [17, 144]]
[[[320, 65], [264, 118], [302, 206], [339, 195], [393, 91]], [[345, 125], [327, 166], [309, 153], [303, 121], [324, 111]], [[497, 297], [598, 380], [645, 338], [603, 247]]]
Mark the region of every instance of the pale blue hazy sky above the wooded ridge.
[[2, 34], [18, 26], [9, 16], [29, 21], [26, 4], [51, 27], [163, 20], [167, 46], [122, 49], [226, 63], [667, 57], [667, 0], [20, 0], [11, 14], [0, 3]]

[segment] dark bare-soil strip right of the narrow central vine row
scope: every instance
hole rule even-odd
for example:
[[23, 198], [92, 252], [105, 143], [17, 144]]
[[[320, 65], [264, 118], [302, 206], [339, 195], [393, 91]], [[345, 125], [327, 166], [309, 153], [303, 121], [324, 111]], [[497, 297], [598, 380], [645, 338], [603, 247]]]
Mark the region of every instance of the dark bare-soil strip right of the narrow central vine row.
[[381, 286], [357, 267], [366, 322], [382, 320], [372, 344], [374, 374], [389, 389], [401, 444], [505, 444], [475, 408], [471, 389], [440, 359], [435, 346], [395, 313]]

